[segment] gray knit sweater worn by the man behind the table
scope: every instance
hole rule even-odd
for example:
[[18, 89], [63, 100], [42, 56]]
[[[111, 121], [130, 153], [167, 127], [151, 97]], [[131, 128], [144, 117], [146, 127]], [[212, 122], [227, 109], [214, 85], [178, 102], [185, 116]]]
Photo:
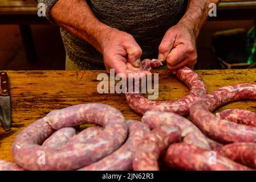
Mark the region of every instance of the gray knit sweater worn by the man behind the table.
[[[45, 3], [46, 17], [58, 0]], [[186, 0], [87, 0], [96, 17], [108, 26], [133, 35], [143, 49], [144, 58], [156, 58], [166, 30], [176, 24], [186, 11]], [[103, 56], [89, 43], [60, 28], [68, 57], [83, 69], [104, 69]]]

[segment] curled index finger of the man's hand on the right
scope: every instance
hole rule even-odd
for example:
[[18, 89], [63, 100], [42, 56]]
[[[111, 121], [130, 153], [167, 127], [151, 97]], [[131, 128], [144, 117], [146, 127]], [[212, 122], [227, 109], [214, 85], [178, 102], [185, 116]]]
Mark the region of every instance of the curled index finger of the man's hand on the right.
[[169, 55], [166, 58], [166, 62], [169, 65], [176, 65], [186, 58], [186, 49], [182, 44], [178, 45], [176, 48], [170, 51]]

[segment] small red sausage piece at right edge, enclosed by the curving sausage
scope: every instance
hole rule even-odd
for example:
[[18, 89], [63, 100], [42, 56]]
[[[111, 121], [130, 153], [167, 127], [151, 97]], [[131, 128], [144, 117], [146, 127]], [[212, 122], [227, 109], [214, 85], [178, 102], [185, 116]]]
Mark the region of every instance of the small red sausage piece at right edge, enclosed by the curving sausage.
[[256, 126], [256, 113], [242, 109], [227, 109], [216, 113], [217, 117], [248, 126]]

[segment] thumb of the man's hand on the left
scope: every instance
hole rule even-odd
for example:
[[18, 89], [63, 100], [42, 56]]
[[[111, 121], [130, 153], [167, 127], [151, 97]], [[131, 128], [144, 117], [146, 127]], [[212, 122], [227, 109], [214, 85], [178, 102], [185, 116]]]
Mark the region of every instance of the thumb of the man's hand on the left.
[[124, 48], [128, 54], [128, 61], [133, 67], [139, 68], [141, 66], [142, 50], [135, 40], [130, 41], [128, 44], [124, 44]]

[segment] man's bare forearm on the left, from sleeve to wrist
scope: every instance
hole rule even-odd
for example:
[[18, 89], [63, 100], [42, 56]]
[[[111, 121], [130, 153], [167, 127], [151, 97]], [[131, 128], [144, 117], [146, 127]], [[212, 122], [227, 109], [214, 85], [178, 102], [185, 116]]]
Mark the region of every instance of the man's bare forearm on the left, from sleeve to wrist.
[[85, 0], [59, 0], [52, 7], [51, 16], [60, 27], [101, 52], [100, 35], [110, 27], [96, 18]]

